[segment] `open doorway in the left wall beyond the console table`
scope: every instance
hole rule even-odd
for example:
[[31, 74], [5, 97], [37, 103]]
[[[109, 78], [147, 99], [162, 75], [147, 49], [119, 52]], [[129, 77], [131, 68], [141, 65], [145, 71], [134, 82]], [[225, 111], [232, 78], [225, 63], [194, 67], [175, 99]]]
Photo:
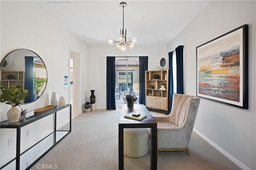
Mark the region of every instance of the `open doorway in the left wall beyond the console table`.
[[70, 50], [69, 103], [72, 104], [72, 119], [79, 115], [80, 54]]

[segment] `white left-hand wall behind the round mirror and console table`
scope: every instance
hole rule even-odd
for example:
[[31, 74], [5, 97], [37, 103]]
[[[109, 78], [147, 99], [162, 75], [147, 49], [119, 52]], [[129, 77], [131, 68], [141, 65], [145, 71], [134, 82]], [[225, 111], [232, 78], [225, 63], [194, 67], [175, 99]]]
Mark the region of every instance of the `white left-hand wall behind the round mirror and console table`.
[[[71, 32], [60, 25], [34, 2], [31, 1], [0, 1], [1, 3], [1, 60], [4, 56], [14, 49], [30, 49], [37, 53], [46, 65], [48, 72], [48, 82], [43, 95], [33, 103], [21, 105], [22, 109], [34, 110], [50, 105], [50, 97], [52, 91], [58, 93], [58, 97], [64, 96], [66, 103], [69, 101], [68, 91], [64, 91], [64, 75], [69, 75], [69, 57], [70, 50], [80, 54], [80, 77], [81, 91], [79, 98], [79, 106], [84, 102], [86, 88], [86, 55], [87, 47], [82, 41], [76, 38]], [[1, 121], [7, 120], [6, 112], [10, 109], [10, 105], [4, 103], [1, 106]], [[82, 113], [82, 107], [77, 109], [78, 113]], [[67, 112], [67, 111], [66, 111]], [[58, 117], [58, 126], [64, 125], [68, 121], [68, 117]], [[45, 121], [44, 126], [48, 121]], [[34, 124], [36, 130], [37, 125]], [[46, 131], [46, 134], [50, 131]], [[15, 138], [16, 133], [10, 133], [1, 129], [1, 165], [4, 162], [2, 153], [8, 150], [8, 138]], [[26, 136], [21, 136], [22, 138]], [[15, 145], [13, 145], [15, 146]], [[9, 152], [10, 151], [10, 152]], [[34, 155], [31, 154], [30, 157]], [[10, 155], [8, 157], [11, 157]]]

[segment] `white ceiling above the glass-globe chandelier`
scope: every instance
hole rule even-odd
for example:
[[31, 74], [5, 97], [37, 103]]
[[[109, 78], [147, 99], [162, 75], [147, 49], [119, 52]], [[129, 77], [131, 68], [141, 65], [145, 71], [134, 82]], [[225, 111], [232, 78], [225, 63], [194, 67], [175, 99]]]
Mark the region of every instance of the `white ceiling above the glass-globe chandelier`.
[[[60, 1], [58, 1], [60, 2]], [[210, 2], [202, 0], [72, 0], [34, 3], [87, 45], [107, 45], [123, 27], [140, 45], [167, 44]]]

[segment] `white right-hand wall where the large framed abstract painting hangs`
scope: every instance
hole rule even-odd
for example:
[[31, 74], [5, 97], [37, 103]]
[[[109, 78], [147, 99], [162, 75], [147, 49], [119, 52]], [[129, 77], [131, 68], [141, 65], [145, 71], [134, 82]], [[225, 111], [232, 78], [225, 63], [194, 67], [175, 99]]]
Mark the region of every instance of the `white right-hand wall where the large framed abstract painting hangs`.
[[[184, 45], [184, 93], [196, 95], [196, 47], [249, 25], [249, 109], [201, 99], [194, 128], [243, 169], [256, 169], [255, 1], [212, 1], [170, 43]], [[198, 146], [200, 147], [200, 146]]]

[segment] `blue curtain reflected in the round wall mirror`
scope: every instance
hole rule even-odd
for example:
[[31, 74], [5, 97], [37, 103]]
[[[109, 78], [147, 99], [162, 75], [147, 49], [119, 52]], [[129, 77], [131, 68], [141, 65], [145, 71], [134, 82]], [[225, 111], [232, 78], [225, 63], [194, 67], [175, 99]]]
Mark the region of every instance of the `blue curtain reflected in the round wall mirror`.
[[30, 103], [35, 100], [34, 94], [34, 57], [25, 56], [25, 83], [24, 89], [28, 90], [28, 97], [25, 99], [25, 103]]

